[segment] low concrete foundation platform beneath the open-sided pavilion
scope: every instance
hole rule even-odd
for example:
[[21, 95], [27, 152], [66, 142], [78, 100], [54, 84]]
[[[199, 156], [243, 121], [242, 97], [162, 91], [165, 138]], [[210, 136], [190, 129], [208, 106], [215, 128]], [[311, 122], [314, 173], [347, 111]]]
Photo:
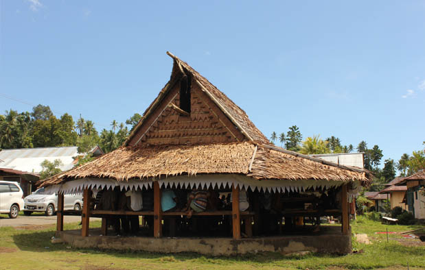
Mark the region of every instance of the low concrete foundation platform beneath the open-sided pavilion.
[[[327, 228], [328, 227], [328, 228]], [[73, 247], [117, 250], [141, 250], [160, 253], [197, 252], [212, 256], [273, 251], [291, 254], [301, 251], [347, 254], [351, 252], [351, 236], [341, 234], [341, 228], [323, 226], [319, 234], [279, 235], [233, 240], [232, 238], [153, 238], [139, 236], [101, 236], [100, 230], [90, 230], [82, 237], [80, 230], [56, 232]]]

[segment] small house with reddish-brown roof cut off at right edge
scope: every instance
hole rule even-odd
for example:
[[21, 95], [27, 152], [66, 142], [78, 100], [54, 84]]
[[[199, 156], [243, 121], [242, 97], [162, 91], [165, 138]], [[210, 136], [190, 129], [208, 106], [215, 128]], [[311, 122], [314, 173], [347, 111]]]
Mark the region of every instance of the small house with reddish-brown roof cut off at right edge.
[[415, 219], [425, 219], [425, 170], [404, 177], [395, 185], [406, 185], [407, 210], [413, 213]]

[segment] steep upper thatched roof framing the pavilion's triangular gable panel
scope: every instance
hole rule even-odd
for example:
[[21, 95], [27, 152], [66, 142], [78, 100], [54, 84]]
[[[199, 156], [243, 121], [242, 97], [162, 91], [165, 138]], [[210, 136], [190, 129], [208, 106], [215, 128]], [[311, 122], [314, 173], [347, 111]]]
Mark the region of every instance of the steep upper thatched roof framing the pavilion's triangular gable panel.
[[[172, 89], [172, 86], [174, 86], [177, 82], [179, 82], [179, 79], [185, 73], [189, 73], [189, 75], [192, 77], [193, 81], [200, 87], [200, 89], [213, 101], [218, 108], [222, 111], [225, 116], [231, 121], [233, 125], [235, 125], [236, 129], [239, 130], [245, 140], [251, 140], [251, 141], [257, 141], [260, 143], [269, 143], [268, 139], [260, 130], [255, 127], [255, 125], [251, 122], [248, 115], [244, 110], [242, 110], [239, 106], [237, 106], [229, 97], [227, 97], [224, 93], [222, 93], [216, 86], [211, 84], [205, 77], [200, 75], [197, 71], [192, 69], [189, 64], [186, 62], [183, 62], [176, 56], [172, 55], [172, 53], [167, 52], [168, 55], [173, 58], [174, 65], [172, 69], [172, 75], [170, 78], [170, 81], [165, 85], [165, 87], [161, 90], [158, 97], [150, 104], [150, 106], [146, 109], [146, 111], [143, 113], [142, 119], [139, 121], [133, 132], [130, 134], [129, 138], [126, 140], [124, 145], [135, 145], [139, 141], [139, 139], [143, 136], [143, 134], [139, 134], [139, 130], [141, 130], [141, 127], [146, 123], [146, 119], [148, 119], [148, 116], [154, 112], [154, 110], [159, 106], [159, 103], [163, 101]], [[135, 138], [136, 136], [139, 136], [139, 138]], [[130, 143], [132, 142], [132, 143]]]

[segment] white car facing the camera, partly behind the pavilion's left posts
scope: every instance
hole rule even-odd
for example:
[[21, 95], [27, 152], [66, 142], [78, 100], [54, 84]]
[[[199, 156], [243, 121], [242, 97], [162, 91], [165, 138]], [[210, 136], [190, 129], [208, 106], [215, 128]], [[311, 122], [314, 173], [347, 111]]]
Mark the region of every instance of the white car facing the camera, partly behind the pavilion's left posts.
[[[25, 207], [23, 214], [29, 216], [32, 212], [45, 212], [47, 216], [52, 216], [58, 210], [58, 195], [45, 194], [44, 188], [38, 188], [34, 193], [23, 199]], [[64, 196], [64, 210], [80, 211], [82, 208], [82, 195]]]

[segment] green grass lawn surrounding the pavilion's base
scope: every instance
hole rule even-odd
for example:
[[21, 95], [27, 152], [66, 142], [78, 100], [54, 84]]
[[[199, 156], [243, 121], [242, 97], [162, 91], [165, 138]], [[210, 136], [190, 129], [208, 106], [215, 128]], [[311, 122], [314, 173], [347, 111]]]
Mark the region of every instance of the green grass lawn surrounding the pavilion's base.
[[[100, 222], [91, 223], [99, 227]], [[65, 230], [80, 228], [65, 224]], [[375, 232], [403, 232], [420, 226], [382, 225], [358, 217], [353, 234], [367, 234], [371, 244], [357, 243], [356, 253], [346, 256], [308, 254], [283, 256], [266, 253], [238, 257], [208, 257], [198, 254], [152, 254], [148, 252], [74, 249], [67, 244], [51, 244], [56, 230], [0, 228], [0, 269], [425, 269], [425, 245], [417, 240]]]

